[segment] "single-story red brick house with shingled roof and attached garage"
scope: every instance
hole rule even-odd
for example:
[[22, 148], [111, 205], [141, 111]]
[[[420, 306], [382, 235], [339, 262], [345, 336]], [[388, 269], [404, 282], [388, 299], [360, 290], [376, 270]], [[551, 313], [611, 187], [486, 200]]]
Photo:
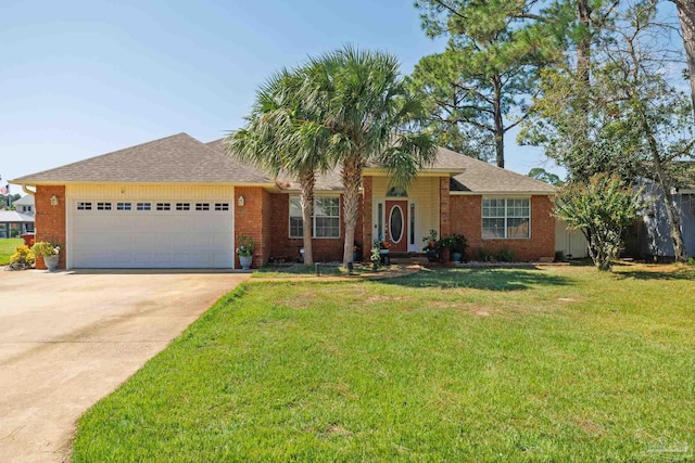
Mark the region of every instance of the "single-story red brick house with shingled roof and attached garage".
[[[255, 242], [254, 267], [300, 257], [299, 185], [229, 159], [222, 140], [179, 133], [12, 183], [36, 190], [36, 239], [64, 245], [59, 268], [239, 268], [242, 234]], [[407, 191], [388, 185], [365, 169], [355, 240], [366, 258], [387, 233], [392, 252], [421, 252], [430, 229], [464, 234], [473, 257], [481, 247], [522, 260], [555, 253], [555, 188], [544, 182], [439, 149]], [[315, 259], [341, 260], [339, 175], [321, 176], [315, 195]]]

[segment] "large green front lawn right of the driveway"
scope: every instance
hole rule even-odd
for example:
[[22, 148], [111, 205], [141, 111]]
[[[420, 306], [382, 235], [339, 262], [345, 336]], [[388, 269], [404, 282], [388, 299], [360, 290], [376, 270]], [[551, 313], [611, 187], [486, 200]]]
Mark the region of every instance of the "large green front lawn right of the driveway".
[[75, 461], [679, 461], [695, 271], [252, 283], [80, 421]]

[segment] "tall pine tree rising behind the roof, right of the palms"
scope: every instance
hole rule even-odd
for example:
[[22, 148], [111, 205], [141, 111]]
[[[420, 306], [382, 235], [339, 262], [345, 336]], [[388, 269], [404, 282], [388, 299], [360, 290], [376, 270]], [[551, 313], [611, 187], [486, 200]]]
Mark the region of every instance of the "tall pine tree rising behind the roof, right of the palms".
[[504, 167], [504, 137], [526, 118], [538, 69], [552, 61], [552, 37], [525, 28], [529, 7], [497, 0], [420, 0], [422, 27], [447, 36], [443, 53], [425, 56], [413, 87], [426, 97], [439, 143]]

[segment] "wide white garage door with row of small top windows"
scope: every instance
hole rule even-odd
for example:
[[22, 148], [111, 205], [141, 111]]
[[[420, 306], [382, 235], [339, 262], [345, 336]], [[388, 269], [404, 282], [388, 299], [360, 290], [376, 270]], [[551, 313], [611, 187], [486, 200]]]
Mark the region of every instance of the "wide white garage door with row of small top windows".
[[73, 268], [231, 268], [227, 202], [71, 202]]

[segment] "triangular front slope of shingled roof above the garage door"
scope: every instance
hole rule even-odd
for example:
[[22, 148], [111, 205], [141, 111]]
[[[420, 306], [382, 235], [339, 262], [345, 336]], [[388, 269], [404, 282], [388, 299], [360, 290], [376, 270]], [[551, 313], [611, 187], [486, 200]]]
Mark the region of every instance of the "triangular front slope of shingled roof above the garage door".
[[12, 182], [273, 183], [274, 180], [187, 133], [178, 133]]

